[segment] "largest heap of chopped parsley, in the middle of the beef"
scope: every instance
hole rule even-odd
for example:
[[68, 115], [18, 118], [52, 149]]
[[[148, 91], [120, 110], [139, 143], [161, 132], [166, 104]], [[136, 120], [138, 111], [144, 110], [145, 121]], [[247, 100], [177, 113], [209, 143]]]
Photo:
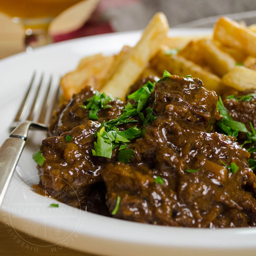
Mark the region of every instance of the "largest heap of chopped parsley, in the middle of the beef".
[[[96, 131], [94, 134], [94, 137], [97, 137], [97, 141], [94, 142], [94, 149], [92, 151], [94, 156], [111, 158], [113, 148], [119, 146], [117, 159], [123, 163], [130, 162], [130, 159], [134, 155], [134, 151], [132, 149], [125, 149], [128, 146], [127, 143], [131, 142], [133, 139], [144, 136], [145, 130], [139, 129], [135, 125], [125, 131], [119, 131], [117, 126], [122, 124], [137, 123], [138, 120], [132, 118], [136, 115], [138, 115], [143, 122], [142, 128], [145, 125], [153, 122], [156, 119], [156, 116], [153, 115], [153, 110], [151, 108], [145, 109], [153, 90], [154, 84], [148, 81], [148, 83], [143, 85], [143, 87], [141, 87], [139, 90], [128, 95], [128, 99], [133, 99], [135, 103], [131, 104], [128, 102], [121, 116], [108, 122], [104, 121], [100, 125], [98, 131]], [[98, 97], [101, 97], [101, 95], [102, 94], [98, 95]], [[100, 99], [102, 100], [105, 98]], [[96, 99], [99, 100], [98, 98]], [[105, 102], [103, 102], [103, 104], [104, 103]], [[87, 108], [87, 106], [85, 107]], [[146, 112], [145, 117], [143, 113], [140, 112], [143, 109], [145, 109]]]

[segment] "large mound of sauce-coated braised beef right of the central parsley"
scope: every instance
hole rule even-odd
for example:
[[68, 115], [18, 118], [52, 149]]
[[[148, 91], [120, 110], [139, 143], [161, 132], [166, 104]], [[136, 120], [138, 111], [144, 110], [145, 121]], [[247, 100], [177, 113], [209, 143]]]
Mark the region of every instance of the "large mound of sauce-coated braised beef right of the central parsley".
[[[156, 83], [149, 105], [157, 119], [129, 145], [134, 157], [102, 170], [110, 212], [121, 197], [116, 218], [181, 227], [253, 223], [256, 176], [248, 167], [250, 154], [234, 137], [207, 132], [220, 119], [216, 104], [216, 94], [198, 79], [172, 76]], [[235, 163], [236, 174], [221, 161]]]

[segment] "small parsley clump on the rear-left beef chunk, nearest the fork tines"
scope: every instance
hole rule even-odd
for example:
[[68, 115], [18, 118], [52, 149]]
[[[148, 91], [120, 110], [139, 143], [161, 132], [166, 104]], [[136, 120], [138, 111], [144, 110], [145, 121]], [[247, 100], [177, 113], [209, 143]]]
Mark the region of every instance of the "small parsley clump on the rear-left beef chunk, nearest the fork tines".
[[111, 95], [106, 96], [105, 93], [100, 94], [98, 91], [95, 92], [94, 96], [85, 100], [85, 102], [89, 102], [86, 106], [79, 105], [81, 108], [90, 109], [89, 111], [89, 118], [90, 119], [99, 119], [97, 113], [99, 112], [100, 108], [106, 109], [111, 108], [111, 105], [107, 105], [108, 102], [113, 101]]

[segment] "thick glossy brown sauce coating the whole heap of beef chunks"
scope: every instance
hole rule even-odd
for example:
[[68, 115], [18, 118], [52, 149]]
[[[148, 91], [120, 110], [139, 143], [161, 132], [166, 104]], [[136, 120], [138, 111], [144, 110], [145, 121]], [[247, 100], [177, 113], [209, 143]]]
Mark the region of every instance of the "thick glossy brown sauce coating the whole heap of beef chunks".
[[[129, 143], [135, 153], [128, 164], [117, 161], [118, 148], [111, 159], [91, 153], [101, 122], [117, 118], [126, 105], [114, 100], [111, 108], [99, 111], [97, 122], [89, 120], [88, 111], [79, 105], [93, 93], [85, 88], [55, 113], [52, 137], [41, 145], [45, 161], [38, 166], [40, 184], [35, 188], [102, 215], [111, 215], [120, 196], [113, 217], [130, 221], [180, 227], [256, 225], [256, 176], [248, 166], [250, 154], [234, 137], [214, 132], [221, 120], [217, 96], [199, 79], [172, 76], [155, 84], [148, 106], [157, 119], [146, 126], [143, 138]], [[231, 113], [232, 106], [224, 104]], [[248, 116], [256, 122], [255, 112]], [[66, 142], [66, 135], [73, 140]], [[229, 173], [221, 161], [236, 163], [239, 170]], [[157, 176], [163, 185], [155, 182]]]

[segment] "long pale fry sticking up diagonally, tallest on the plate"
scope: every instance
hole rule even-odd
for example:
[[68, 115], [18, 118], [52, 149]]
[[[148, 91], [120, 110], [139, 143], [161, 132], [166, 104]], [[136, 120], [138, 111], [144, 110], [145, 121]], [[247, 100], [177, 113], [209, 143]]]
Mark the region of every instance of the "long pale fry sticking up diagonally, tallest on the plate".
[[140, 41], [119, 64], [101, 91], [124, 99], [128, 88], [138, 79], [148, 61], [160, 49], [168, 29], [166, 16], [162, 12], [155, 14], [145, 28]]

